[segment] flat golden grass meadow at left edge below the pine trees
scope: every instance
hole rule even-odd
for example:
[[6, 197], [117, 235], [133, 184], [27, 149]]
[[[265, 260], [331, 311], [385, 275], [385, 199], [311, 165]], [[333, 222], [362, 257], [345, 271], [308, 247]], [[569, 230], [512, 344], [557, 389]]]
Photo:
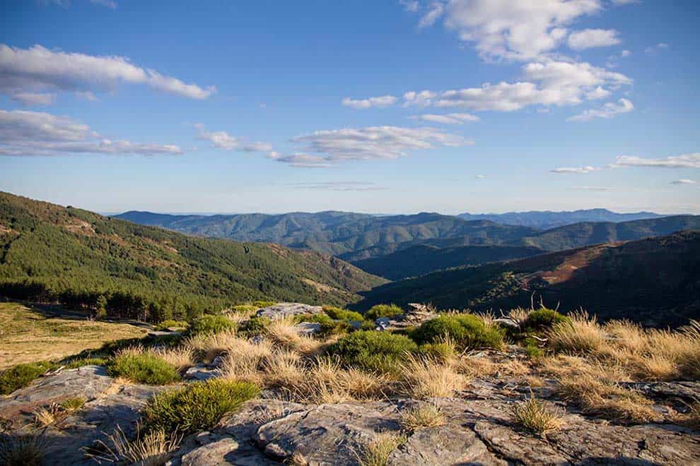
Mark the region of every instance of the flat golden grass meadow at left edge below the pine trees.
[[143, 328], [129, 323], [88, 321], [80, 314], [71, 315], [75, 317], [47, 318], [37, 308], [0, 303], [0, 370], [62, 359], [84, 349], [98, 349], [106, 342], [145, 335]]

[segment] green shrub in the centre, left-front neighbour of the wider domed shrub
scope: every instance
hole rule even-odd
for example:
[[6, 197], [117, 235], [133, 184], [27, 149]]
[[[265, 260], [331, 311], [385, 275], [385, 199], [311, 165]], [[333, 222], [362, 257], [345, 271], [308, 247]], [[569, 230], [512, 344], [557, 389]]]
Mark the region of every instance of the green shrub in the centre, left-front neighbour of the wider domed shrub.
[[418, 345], [409, 337], [374, 330], [358, 330], [328, 348], [346, 366], [389, 373], [397, 370], [397, 362], [407, 352], [417, 350]]

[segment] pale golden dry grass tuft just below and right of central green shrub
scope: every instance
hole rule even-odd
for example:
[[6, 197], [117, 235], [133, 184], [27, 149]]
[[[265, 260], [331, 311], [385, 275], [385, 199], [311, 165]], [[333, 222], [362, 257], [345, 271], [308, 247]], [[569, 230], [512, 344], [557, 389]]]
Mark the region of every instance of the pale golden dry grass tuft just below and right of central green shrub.
[[419, 400], [449, 397], [467, 385], [467, 378], [457, 372], [455, 366], [425, 357], [407, 355], [399, 369], [402, 393]]

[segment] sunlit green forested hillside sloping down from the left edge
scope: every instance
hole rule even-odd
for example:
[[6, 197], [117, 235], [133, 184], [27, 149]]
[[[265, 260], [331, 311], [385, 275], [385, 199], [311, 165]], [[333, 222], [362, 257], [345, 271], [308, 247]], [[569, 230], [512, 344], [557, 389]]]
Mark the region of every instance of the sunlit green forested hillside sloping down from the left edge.
[[0, 294], [157, 321], [261, 299], [344, 304], [384, 280], [337, 258], [187, 237], [0, 193]]

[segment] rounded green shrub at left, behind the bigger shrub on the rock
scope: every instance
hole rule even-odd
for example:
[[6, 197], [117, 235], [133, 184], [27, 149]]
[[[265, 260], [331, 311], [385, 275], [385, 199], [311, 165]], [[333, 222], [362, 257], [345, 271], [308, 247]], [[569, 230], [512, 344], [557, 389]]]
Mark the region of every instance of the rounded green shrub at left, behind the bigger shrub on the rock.
[[175, 366], [149, 352], [124, 351], [107, 362], [107, 374], [136, 383], [166, 385], [180, 380]]

